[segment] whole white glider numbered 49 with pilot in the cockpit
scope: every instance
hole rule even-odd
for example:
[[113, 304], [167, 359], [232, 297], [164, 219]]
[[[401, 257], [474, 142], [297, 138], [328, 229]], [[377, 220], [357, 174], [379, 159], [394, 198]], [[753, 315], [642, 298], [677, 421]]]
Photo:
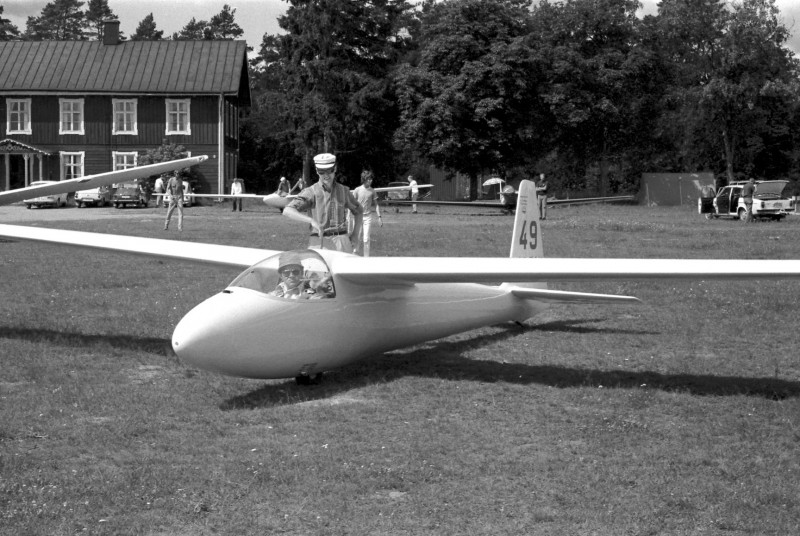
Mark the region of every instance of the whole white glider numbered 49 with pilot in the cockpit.
[[389, 350], [521, 322], [550, 304], [638, 302], [551, 290], [550, 281], [800, 278], [798, 260], [544, 258], [529, 181], [519, 192], [510, 258], [363, 258], [14, 225], [0, 225], [0, 236], [237, 270], [178, 322], [172, 348], [192, 367], [299, 383]]

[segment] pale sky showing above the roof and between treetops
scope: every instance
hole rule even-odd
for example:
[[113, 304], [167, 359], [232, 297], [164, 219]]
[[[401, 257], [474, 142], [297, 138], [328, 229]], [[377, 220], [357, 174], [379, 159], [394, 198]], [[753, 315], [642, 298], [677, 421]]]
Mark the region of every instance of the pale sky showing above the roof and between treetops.
[[[640, 0], [643, 13], [655, 14], [659, 0]], [[3, 15], [21, 30], [29, 16], [39, 16], [48, 0], [0, 0], [5, 8]], [[153, 14], [156, 27], [165, 35], [183, 28], [192, 17], [209, 20], [222, 11], [222, 6], [236, 9], [235, 20], [244, 30], [244, 39], [253, 48], [258, 48], [265, 33], [278, 33], [277, 18], [288, 6], [284, 0], [109, 0], [108, 5], [119, 17], [125, 35], [136, 31], [139, 22], [149, 13]], [[800, 53], [800, 0], [777, 0], [784, 17], [784, 24], [791, 30], [789, 48]]]

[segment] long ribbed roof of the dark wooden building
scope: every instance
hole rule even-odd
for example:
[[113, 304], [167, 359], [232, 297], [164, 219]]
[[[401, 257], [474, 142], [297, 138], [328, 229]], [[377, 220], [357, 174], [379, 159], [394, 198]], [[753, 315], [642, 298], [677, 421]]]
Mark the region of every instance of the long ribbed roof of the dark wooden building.
[[250, 104], [244, 41], [0, 41], [0, 91], [238, 95]]

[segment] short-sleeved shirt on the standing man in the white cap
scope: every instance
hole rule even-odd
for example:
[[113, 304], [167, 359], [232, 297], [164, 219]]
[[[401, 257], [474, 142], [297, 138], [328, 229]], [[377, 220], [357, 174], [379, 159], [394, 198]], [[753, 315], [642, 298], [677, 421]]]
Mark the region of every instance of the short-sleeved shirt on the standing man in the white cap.
[[353, 197], [350, 188], [334, 182], [331, 191], [325, 191], [319, 182], [305, 188], [297, 197], [289, 201], [287, 207], [305, 212], [322, 225], [325, 233], [347, 232], [347, 210], [361, 212], [361, 206]]

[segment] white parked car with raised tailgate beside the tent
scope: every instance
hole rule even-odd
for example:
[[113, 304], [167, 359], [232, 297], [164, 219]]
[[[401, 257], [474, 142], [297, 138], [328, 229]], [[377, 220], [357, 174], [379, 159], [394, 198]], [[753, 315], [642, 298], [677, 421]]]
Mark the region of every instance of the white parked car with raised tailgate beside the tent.
[[[707, 219], [729, 217], [745, 219], [747, 209], [742, 199], [745, 182], [734, 182], [718, 192], [713, 190], [698, 199], [697, 210]], [[792, 200], [786, 195], [788, 180], [756, 181], [753, 194], [753, 217], [780, 221], [792, 210]]]

